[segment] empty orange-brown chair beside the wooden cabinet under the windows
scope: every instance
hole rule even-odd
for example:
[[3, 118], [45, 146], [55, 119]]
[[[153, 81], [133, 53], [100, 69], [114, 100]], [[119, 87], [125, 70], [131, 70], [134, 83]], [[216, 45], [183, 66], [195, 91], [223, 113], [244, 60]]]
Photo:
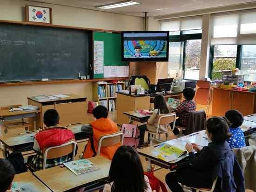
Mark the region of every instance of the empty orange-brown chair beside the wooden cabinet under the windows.
[[207, 105], [206, 113], [209, 113], [210, 108], [210, 88], [211, 82], [198, 80], [196, 82], [196, 86], [198, 87], [195, 93], [195, 103], [201, 105]]

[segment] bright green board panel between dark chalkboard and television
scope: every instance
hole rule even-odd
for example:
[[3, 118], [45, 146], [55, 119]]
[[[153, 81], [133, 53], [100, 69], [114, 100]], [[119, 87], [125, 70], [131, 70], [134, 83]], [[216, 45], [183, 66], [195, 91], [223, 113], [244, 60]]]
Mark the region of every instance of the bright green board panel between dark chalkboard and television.
[[[104, 66], [128, 66], [121, 61], [121, 34], [94, 32], [93, 39], [104, 41]], [[95, 78], [103, 78], [104, 74], [94, 74]]]

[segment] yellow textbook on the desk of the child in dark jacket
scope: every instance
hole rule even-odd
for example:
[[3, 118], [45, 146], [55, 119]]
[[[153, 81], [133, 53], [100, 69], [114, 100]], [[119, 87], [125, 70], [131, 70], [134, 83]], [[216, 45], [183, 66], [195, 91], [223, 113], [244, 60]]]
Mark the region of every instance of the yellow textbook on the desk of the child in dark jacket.
[[180, 156], [186, 154], [187, 151], [167, 143], [162, 143], [156, 147], [155, 153], [157, 158], [169, 162], [178, 159]]

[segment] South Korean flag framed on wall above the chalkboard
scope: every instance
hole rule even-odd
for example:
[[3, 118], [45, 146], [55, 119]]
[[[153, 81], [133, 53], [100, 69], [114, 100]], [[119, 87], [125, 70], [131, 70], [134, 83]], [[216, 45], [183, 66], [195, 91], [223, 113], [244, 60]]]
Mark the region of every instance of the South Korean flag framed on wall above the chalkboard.
[[28, 7], [28, 20], [32, 22], [50, 23], [50, 9], [44, 7]]

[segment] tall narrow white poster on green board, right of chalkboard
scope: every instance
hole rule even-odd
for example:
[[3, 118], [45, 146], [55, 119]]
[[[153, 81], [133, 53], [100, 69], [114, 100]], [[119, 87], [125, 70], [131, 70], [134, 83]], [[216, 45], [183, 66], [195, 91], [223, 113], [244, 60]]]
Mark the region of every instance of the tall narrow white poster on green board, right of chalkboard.
[[104, 72], [104, 41], [94, 40], [94, 74]]

